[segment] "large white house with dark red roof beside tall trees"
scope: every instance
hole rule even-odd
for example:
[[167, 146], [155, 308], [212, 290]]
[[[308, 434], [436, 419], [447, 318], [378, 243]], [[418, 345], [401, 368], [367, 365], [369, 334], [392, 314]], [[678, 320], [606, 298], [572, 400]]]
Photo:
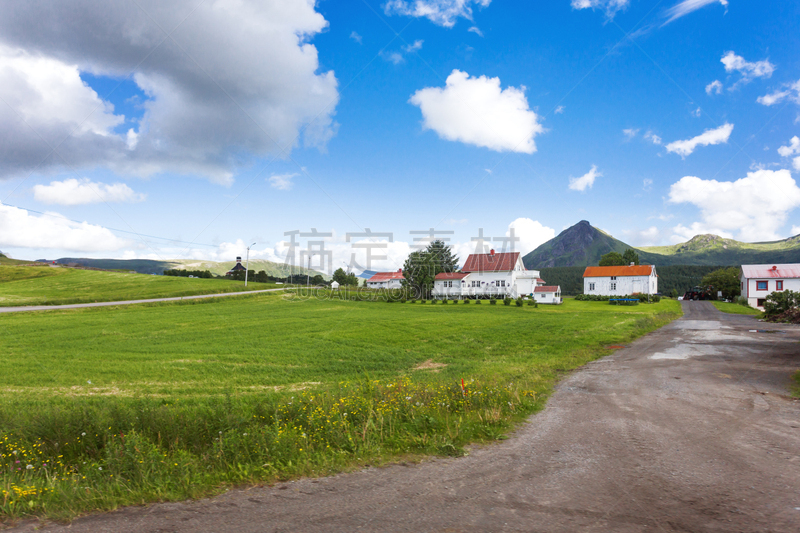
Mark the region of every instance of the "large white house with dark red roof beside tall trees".
[[442, 272], [433, 282], [434, 298], [517, 298], [533, 296], [544, 285], [538, 270], [528, 270], [519, 252], [470, 254], [461, 272]]

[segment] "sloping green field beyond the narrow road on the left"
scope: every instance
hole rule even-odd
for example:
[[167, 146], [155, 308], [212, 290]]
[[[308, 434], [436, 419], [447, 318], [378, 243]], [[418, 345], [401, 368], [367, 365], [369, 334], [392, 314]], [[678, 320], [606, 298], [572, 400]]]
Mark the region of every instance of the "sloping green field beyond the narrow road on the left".
[[0, 307], [113, 302], [280, 287], [224, 279], [149, 276], [127, 272], [0, 266]]

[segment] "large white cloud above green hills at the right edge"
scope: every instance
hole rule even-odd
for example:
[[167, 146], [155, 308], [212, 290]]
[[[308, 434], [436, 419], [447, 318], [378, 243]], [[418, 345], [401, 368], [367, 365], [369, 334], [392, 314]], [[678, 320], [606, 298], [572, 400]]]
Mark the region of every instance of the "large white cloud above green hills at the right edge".
[[690, 203], [701, 221], [679, 224], [676, 238], [714, 233], [742, 241], [777, 240], [788, 214], [800, 206], [800, 188], [788, 170], [758, 170], [730, 182], [686, 176], [670, 187], [669, 202]]

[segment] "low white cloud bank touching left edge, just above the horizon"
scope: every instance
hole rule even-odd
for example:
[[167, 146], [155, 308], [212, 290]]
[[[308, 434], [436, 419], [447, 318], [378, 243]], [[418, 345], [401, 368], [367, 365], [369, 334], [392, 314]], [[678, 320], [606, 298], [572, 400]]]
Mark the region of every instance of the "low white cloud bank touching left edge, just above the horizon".
[[72, 222], [57, 213], [34, 215], [0, 204], [0, 246], [103, 252], [119, 250], [130, 242], [101, 226]]

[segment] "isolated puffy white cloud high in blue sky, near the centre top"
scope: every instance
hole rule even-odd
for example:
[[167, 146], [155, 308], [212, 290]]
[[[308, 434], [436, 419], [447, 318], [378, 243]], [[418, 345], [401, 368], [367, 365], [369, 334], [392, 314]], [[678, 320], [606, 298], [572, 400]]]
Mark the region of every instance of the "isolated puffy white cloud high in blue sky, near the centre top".
[[422, 111], [423, 127], [439, 137], [497, 152], [531, 154], [534, 137], [544, 131], [528, 108], [525, 87], [501, 89], [500, 78], [453, 70], [444, 88], [420, 89], [409, 102]]

